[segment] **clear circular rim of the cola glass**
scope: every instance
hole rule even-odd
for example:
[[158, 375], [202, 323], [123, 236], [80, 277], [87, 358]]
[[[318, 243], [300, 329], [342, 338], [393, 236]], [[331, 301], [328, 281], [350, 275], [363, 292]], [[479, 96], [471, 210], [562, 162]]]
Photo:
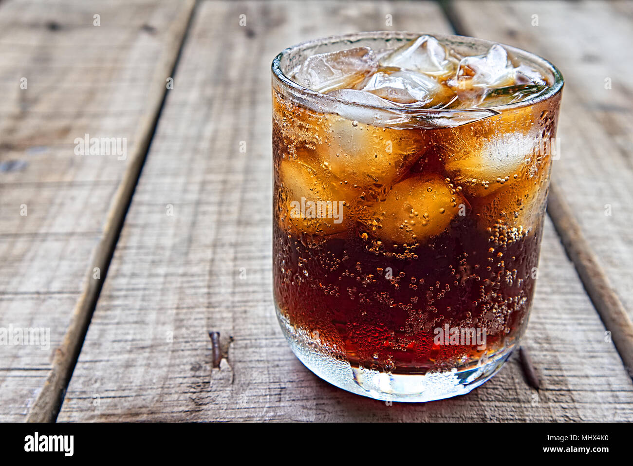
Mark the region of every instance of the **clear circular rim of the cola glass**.
[[[343, 42], [348, 41], [348, 43], [352, 43], [354, 41], [360, 41], [362, 39], [415, 39], [416, 37], [420, 37], [420, 35], [432, 35], [437, 39], [457, 39], [463, 40], [465, 42], [470, 43], [479, 43], [479, 44], [487, 44], [492, 46], [492, 44], [499, 44], [511, 53], [518, 55], [520, 57], [528, 58], [532, 63], [536, 65], [541, 65], [542, 68], [548, 70], [553, 76], [553, 83], [548, 85], [548, 88], [545, 92], [534, 96], [533, 98], [525, 99], [523, 101], [518, 101], [510, 104], [503, 104], [492, 107], [480, 107], [480, 108], [465, 108], [465, 109], [427, 109], [427, 108], [403, 108], [398, 106], [387, 107], [387, 106], [376, 106], [365, 103], [357, 103], [353, 101], [348, 101], [344, 99], [335, 98], [328, 94], [323, 94], [322, 92], [312, 91], [307, 87], [304, 87], [292, 80], [288, 77], [281, 69], [281, 60], [284, 56], [288, 56], [289, 54], [301, 51], [303, 49], [307, 49], [309, 47], [318, 46], [320, 44], [333, 43], [333, 42]], [[369, 110], [382, 110], [382, 111], [395, 111], [401, 113], [401, 115], [408, 115], [412, 118], [415, 118], [416, 115], [419, 116], [433, 116], [433, 115], [451, 115], [451, 114], [463, 114], [468, 112], [481, 112], [489, 110], [491, 111], [491, 115], [499, 115], [499, 113], [505, 110], [511, 110], [514, 108], [521, 108], [525, 106], [530, 106], [536, 103], [540, 103], [546, 101], [548, 99], [553, 98], [556, 94], [559, 94], [563, 89], [563, 85], [565, 81], [563, 80], [563, 75], [554, 66], [549, 60], [542, 58], [541, 56], [528, 52], [526, 50], [520, 49], [518, 47], [509, 46], [507, 44], [503, 44], [501, 42], [488, 41], [487, 39], [478, 39], [477, 37], [471, 37], [468, 35], [454, 35], [454, 34], [430, 34], [423, 32], [408, 32], [408, 31], [368, 31], [368, 32], [353, 32], [351, 34], [341, 34], [341, 35], [329, 35], [327, 37], [320, 37], [318, 39], [311, 39], [310, 41], [299, 42], [294, 46], [286, 47], [282, 50], [272, 61], [271, 66], [273, 76], [275, 76], [283, 85], [292, 89], [292, 91], [297, 92], [303, 97], [306, 97], [310, 100], [318, 99], [318, 101], [329, 102], [330, 104], [344, 104], [348, 106], [352, 106], [355, 108], [367, 108]]]

